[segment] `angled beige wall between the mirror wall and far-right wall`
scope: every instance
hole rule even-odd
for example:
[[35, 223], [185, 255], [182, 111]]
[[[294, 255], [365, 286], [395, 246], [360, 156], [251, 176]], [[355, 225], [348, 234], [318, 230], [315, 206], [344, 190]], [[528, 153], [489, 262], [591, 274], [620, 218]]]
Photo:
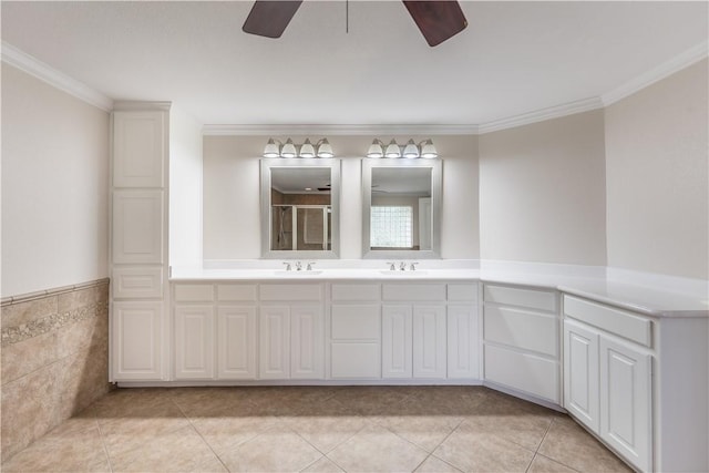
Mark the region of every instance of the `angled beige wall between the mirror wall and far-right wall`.
[[605, 265], [603, 111], [480, 136], [480, 254]]

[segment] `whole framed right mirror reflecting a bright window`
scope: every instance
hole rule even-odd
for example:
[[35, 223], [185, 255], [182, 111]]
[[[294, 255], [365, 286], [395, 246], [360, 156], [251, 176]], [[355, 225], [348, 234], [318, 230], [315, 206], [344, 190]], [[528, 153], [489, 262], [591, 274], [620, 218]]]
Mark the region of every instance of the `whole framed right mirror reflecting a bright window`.
[[362, 160], [362, 256], [440, 258], [441, 161]]

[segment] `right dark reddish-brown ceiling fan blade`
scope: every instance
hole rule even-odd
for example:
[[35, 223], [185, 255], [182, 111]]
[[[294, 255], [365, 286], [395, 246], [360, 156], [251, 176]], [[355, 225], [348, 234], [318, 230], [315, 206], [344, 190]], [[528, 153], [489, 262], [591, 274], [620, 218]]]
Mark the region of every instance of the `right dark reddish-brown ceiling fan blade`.
[[467, 20], [458, 1], [402, 1], [431, 47], [442, 43], [467, 27]]

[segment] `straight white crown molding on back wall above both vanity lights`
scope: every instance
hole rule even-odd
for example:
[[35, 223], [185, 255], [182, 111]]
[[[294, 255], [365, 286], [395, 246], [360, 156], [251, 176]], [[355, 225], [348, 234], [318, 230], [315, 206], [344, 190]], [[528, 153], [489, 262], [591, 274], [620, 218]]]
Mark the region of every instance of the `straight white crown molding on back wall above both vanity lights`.
[[477, 125], [204, 125], [208, 136], [475, 135]]

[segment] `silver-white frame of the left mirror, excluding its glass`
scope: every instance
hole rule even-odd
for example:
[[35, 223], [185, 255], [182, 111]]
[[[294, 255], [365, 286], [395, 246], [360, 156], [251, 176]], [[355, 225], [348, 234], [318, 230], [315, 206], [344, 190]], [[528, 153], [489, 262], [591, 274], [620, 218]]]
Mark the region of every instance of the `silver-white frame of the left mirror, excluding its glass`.
[[[261, 258], [263, 259], [335, 259], [340, 254], [340, 160], [323, 157], [264, 157], [261, 162]], [[277, 250], [270, 249], [271, 232], [271, 169], [273, 168], [305, 168], [305, 167], [328, 167], [330, 168], [330, 237], [331, 249], [328, 250]]]

